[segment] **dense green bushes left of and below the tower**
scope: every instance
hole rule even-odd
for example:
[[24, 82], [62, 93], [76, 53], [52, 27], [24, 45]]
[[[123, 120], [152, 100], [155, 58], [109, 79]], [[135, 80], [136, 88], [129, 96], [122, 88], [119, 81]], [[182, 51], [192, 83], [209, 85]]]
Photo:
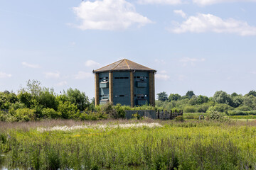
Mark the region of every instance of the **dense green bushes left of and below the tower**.
[[103, 120], [124, 118], [125, 110], [152, 110], [154, 107], [113, 106], [112, 103], [95, 107], [78, 89], [55, 94], [53, 89], [41, 86], [40, 81], [29, 80], [18, 94], [0, 91], [0, 121], [29, 121], [42, 119]]

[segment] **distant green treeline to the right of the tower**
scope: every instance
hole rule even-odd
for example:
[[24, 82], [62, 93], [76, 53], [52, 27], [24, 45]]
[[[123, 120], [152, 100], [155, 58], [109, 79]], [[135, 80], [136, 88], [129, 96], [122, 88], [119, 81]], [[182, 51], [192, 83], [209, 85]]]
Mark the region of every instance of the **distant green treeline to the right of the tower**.
[[156, 107], [164, 110], [183, 110], [185, 113], [206, 113], [218, 111], [227, 115], [256, 115], [256, 91], [242, 94], [228, 94], [216, 91], [213, 97], [196, 96], [188, 91], [185, 96], [179, 94], [157, 94]]

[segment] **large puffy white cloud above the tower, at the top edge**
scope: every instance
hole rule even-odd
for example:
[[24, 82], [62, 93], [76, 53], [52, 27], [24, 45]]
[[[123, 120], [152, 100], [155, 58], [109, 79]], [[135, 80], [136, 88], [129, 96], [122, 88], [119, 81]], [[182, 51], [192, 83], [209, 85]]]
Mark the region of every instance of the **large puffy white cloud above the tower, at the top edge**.
[[125, 0], [85, 1], [73, 11], [81, 20], [78, 26], [81, 30], [122, 30], [132, 25], [152, 23]]

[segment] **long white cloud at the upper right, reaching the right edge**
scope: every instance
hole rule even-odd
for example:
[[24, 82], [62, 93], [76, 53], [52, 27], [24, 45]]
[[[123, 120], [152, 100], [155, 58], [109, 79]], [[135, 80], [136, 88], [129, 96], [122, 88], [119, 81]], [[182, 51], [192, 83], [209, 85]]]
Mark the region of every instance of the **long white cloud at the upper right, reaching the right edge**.
[[211, 14], [198, 13], [197, 16], [189, 16], [186, 21], [169, 29], [173, 33], [235, 33], [238, 35], [256, 35], [256, 27], [249, 26], [244, 21], [233, 18], [223, 20]]

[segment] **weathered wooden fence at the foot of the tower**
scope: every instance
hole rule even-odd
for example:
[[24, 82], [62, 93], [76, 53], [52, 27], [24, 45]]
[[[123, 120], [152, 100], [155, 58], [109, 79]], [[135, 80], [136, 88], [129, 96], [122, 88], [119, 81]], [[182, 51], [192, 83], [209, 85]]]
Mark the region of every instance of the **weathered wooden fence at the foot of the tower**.
[[125, 111], [125, 118], [131, 119], [134, 118], [134, 115], [137, 114], [139, 117], [148, 117], [151, 119], [161, 119], [161, 120], [171, 120], [176, 118], [178, 115], [183, 116], [183, 110], [180, 111]]

